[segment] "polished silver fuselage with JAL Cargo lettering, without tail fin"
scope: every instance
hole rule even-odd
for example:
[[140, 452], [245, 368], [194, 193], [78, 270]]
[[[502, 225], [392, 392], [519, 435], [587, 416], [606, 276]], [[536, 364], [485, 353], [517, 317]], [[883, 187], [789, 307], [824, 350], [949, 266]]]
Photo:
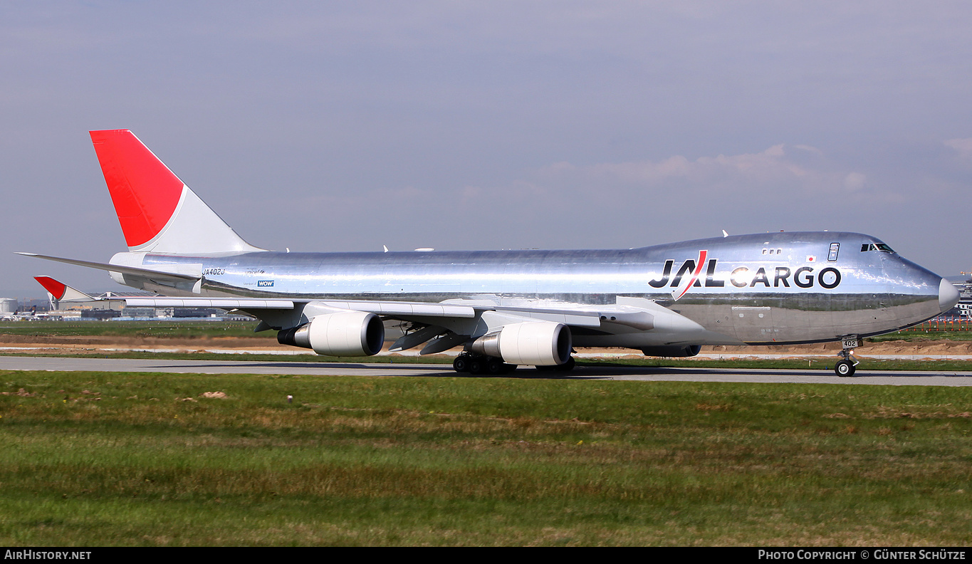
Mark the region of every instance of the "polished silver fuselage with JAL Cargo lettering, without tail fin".
[[[711, 335], [698, 344], [767, 344], [879, 335], [938, 315], [942, 278], [878, 250], [880, 243], [851, 232], [778, 232], [628, 250], [120, 253], [112, 263], [201, 269], [194, 288], [113, 274], [124, 284], [168, 295], [532, 307], [641, 298], [708, 330]], [[574, 343], [655, 344], [639, 332], [588, 333], [575, 332]]]

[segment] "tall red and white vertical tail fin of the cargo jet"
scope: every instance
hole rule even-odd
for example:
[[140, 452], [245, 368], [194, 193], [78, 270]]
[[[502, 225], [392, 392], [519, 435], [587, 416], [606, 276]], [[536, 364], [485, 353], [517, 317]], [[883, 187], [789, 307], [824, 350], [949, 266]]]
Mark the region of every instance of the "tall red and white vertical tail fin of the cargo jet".
[[133, 253], [262, 251], [244, 241], [127, 129], [91, 131], [94, 152]]

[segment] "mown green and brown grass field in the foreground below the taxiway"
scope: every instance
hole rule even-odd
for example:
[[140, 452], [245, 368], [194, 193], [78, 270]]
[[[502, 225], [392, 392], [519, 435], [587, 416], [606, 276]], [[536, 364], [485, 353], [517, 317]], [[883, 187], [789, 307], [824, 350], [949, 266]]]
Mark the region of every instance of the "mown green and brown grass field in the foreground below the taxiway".
[[7, 371], [0, 391], [8, 546], [972, 541], [969, 388]]

